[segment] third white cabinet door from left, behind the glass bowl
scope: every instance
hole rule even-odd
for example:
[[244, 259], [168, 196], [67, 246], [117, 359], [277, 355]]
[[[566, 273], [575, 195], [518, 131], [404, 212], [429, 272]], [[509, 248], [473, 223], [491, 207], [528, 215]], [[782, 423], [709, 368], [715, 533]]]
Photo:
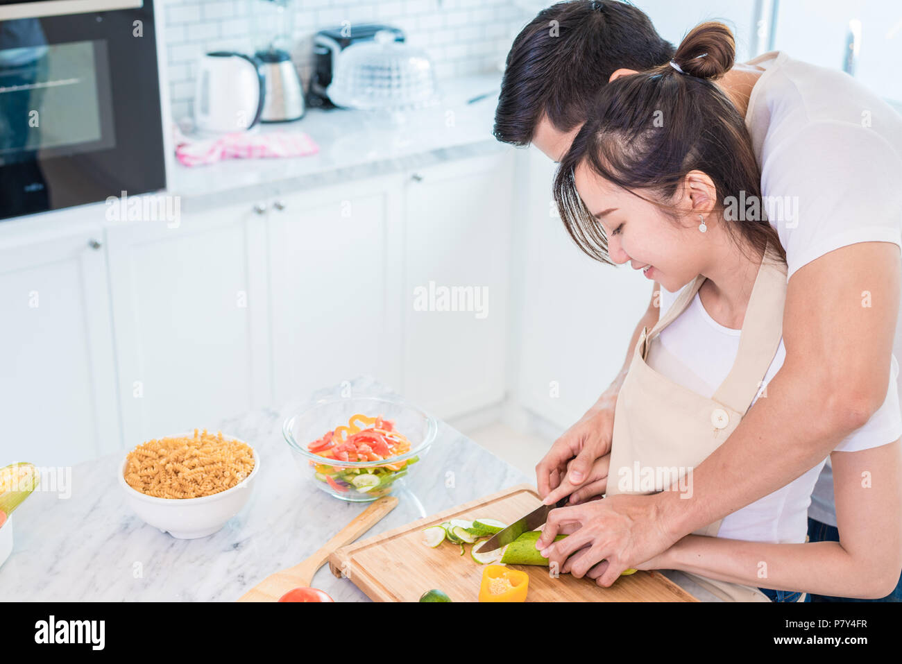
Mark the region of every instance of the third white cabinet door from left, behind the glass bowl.
[[371, 374], [400, 389], [400, 178], [280, 195], [270, 206], [278, 403]]

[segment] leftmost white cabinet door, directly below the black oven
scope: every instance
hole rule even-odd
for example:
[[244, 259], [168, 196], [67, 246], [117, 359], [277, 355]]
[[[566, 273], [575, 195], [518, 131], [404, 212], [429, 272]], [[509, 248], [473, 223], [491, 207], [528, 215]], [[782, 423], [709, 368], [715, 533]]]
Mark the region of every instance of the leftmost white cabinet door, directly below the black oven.
[[27, 243], [7, 238], [0, 244], [0, 466], [71, 466], [117, 449], [103, 229]]

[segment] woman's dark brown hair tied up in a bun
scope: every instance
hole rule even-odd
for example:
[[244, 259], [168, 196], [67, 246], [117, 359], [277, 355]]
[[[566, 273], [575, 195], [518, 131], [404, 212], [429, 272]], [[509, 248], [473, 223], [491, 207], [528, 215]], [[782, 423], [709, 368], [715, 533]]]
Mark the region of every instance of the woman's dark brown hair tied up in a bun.
[[[726, 198], [761, 201], [760, 171], [744, 119], [712, 82], [735, 59], [732, 32], [723, 23], [697, 25], [676, 50], [674, 62], [617, 78], [594, 101], [588, 120], [576, 134], [557, 169], [554, 195], [567, 232], [585, 254], [612, 263], [607, 235], [576, 192], [574, 172], [583, 161], [605, 180], [655, 203], [676, 220], [667, 205], [689, 171], [713, 181], [715, 209]], [[649, 197], [644, 191], [649, 192]], [[761, 206], [763, 210], [763, 206]], [[762, 213], [763, 217], [763, 213]], [[777, 231], [768, 221], [723, 222], [738, 246], [754, 247], [786, 261]]]

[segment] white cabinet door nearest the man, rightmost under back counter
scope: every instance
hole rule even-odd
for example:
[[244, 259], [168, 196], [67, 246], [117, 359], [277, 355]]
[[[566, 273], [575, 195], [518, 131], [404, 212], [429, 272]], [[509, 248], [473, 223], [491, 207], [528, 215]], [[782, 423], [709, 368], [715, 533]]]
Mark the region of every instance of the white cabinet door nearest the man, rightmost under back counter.
[[403, 390], [450, 418], [502, 401], [513, 154], [409, 173]]

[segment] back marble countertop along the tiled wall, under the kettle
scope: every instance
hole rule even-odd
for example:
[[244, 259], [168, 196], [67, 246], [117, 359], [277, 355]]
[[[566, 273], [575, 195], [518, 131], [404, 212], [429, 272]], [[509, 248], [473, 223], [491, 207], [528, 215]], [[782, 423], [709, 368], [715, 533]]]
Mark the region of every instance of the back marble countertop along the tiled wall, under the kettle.
[[190, 168], [173, 160], [168, 191], [195, 208], [219, 206], [511, 149], [492, 136], [500, 73], [453, 78], [439, 85], [440, 102], [417, 111], [389, 115], [308, 109], [295, 122], [258, 125], [253, 131], [306, 133], [319, 152]]

